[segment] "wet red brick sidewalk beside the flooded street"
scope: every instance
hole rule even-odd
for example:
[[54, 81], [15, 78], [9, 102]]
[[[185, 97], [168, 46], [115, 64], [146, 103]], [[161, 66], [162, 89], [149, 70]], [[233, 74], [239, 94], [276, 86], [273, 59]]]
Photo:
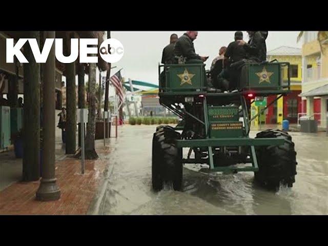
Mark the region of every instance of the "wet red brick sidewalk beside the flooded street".
[[80, 160], [66, 157], [57, 161], [56, 178], [61, 196], [57, 201], [37, 201], [39, 181], [16, 182], [0, 192], [0, 214], [86, 214], [108, 165], [109, 147], [97, 149], [98, 160], [85, 161], [81, 175]]

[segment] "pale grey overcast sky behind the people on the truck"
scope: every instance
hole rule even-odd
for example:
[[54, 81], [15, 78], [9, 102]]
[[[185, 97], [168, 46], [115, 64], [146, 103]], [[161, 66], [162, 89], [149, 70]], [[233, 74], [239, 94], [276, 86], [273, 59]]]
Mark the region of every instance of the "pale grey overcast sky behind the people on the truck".
[[[158, 85], [158, 63], [162, 50], [169, 44], [172, 33], [182, 35], [183, 31], [148, 31], [148, 32], [111, 32], [111, 37], [120, 40], [124, 46], [124, 56], [113, 64], [117, 69], [123, 68], [121, 74], [128, 78], [147, 81]], [[298, 32], [271, 32], [267, 38], [267, 50], [280, 46], [301, 48], [302, 43], [296, 42]], [[248, 41], [247, 32], [243, 32], [244, 40]], [[199, 31], [194, 41], [196, 53], [210, 56], [206, 62], [206, 69], [210, 68], [213, 58], [218, 55], [221, 46], [228, 46], [233, 41], [234, 31]], [[115, 73], [117, 69], [113, 69]], [[144, 88], [142, 88], [144, 89]]]

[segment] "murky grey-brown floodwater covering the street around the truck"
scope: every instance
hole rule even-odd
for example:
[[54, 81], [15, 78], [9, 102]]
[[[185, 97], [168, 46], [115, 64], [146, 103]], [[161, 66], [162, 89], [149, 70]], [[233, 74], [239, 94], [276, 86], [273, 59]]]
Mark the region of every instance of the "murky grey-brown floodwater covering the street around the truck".
[[186, 165], [182, 192], [166, 187], [156, 193], [151, 187], [155, 128], [123, 126], [117, 139], [110, 138], [108, 169], [89, 214], [328, 214], [328, 137], [324, 132], [290, 133], [298, 162], [293, 188], [267, 191], [254, 183], [252, 172], [204, 174], [195, 171], [198, 165]]

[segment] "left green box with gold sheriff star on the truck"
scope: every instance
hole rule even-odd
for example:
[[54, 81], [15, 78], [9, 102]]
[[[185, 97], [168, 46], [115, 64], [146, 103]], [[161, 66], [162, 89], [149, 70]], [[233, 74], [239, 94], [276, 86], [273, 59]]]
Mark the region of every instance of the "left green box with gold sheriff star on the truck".
[[165, 66], [165, 91], [202, 91], [206, 81], [204, 64]]

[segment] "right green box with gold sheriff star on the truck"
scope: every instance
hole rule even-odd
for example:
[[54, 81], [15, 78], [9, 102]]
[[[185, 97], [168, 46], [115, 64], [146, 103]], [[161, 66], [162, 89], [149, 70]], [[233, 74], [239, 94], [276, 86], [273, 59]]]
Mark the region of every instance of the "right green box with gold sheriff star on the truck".
[[241, 69], [240, 87], [247, 90], [281, 90], [280, 63], [246, 64]]

